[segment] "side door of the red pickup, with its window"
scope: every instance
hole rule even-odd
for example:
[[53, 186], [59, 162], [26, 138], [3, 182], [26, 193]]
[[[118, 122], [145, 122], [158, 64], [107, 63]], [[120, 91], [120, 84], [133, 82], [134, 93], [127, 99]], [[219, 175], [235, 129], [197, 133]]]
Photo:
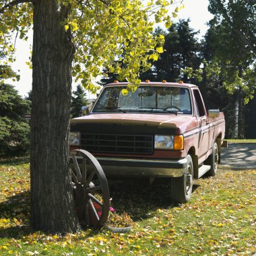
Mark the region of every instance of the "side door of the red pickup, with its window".
[[193, 90], [195, 98], [195, 113], [197, 115], [197, 134], [198, 134], [198, 158], [199, 163], [203, 162], [209, 150], [209, 131], [210, 126], [207, 119], [207, 113], [199, 90]]

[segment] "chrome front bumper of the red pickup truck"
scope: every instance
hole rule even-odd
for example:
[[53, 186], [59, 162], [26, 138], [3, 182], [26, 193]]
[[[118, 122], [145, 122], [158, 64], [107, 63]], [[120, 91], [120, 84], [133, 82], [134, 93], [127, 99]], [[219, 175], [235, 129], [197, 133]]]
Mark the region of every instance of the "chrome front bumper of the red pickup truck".
[[96, 159], [107, 177], [181, 177], [187, 168], [186, 158], [148, 160], [96, 157]]

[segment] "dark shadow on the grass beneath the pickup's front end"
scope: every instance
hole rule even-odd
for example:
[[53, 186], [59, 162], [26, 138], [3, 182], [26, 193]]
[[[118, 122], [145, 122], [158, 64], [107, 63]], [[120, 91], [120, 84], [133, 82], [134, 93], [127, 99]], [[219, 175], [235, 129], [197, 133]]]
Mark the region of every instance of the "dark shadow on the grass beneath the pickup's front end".
[[[108, 185], [114, 209], [118, 213], [127, 212], [134, 221], [152, 218], [158, 208], [179, 207], [170, 199], [168, 179], [156, 179], [152, 184], [145, 179], [109, 180]], [[193, 185], [193, 191], [197, 187]]]

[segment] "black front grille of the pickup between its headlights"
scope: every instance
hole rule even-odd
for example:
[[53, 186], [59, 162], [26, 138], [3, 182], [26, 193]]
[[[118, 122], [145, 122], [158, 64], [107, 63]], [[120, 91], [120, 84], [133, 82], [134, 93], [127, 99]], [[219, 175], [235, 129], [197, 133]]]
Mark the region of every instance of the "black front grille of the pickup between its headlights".
[[153, 135], [81, 133], [81, 148], [89, 152], [152, 154]]

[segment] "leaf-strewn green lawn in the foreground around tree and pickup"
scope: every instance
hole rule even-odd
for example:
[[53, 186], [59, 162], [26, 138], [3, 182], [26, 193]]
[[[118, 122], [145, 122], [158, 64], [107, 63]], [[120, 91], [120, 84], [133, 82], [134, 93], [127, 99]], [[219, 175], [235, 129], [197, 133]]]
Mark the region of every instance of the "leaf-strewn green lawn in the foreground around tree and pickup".
[[44, 234], [29, 226], [28, 158], [0, 161], [0, 255], [252, 255], [256, 170], [220, 167], [195, 181], [192, 199], [172, 205], [169, 185], [110, 181], [113, 207], [131, 215], [127, 234], [106, 229]]

